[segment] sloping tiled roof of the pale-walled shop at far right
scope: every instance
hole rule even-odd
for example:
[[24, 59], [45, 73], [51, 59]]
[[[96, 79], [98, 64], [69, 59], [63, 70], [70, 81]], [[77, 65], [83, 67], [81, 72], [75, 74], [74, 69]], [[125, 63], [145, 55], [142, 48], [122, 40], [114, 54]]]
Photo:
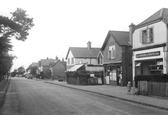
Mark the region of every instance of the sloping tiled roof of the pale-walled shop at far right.
[[153, 15], [148, 17], [146, 20], [142, 21], [138, 25], [135, 26], [135, 28], [139, 28], [142, 26], [146, 26], [148, 24], [155, 23], [157, 21], [163, 20], [166, 24], [168, 24], [168, 9], [167, 8], [162, 8], [155, 12]]

